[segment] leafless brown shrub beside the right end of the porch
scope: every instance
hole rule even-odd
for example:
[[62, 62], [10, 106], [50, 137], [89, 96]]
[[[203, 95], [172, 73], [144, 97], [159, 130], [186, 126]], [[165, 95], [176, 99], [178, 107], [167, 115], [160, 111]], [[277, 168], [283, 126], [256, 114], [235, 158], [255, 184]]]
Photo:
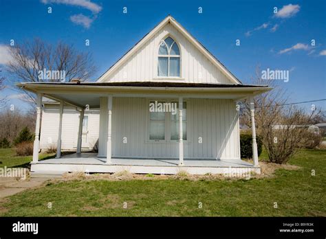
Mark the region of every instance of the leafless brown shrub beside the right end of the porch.
[[[309, 140], [305, 138], [309, 135], [307, 126], [312, 124], [320, 111], [308, 114], [303, 109], [287, 104], [286, 91], [273, 80], [262, 80], [259, 67], [254, 83], [274, 87], [272, 91], [254, 98], [255, 121], [257, 133], [261, 136], [270, 161], [286, 163]], [[243, 102], [241, 108], [241, 124], [251, 127], [249, 102]]]

